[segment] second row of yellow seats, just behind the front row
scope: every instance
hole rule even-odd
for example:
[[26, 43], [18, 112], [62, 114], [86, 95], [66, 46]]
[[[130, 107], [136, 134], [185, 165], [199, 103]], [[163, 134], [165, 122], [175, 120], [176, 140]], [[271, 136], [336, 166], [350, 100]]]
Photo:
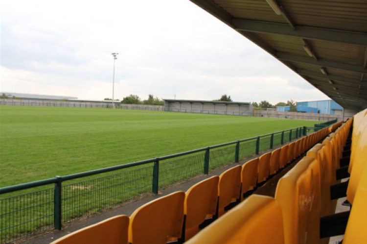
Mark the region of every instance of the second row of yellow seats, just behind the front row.
[[320, 238], [320, 218], [335, 211], [330, 186], [337, 183], [339, 152], [351, 123], [345, 122], [308, 150], [307, 156], [280, 178], [274, 198], [251, 195], [187, 243], [328, 243], [328, 238]]

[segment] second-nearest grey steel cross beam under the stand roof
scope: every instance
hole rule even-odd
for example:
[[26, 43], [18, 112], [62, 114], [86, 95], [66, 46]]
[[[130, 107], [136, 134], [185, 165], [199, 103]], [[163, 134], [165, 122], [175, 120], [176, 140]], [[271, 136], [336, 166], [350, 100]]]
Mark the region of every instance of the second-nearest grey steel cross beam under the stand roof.
[[297, 54], [293, 54], [289, 52], [277, 51], [276, 57], [280, 60], [313, 64], [313, 65], [318, 65], [322, 67], [335, 68], [335, 69], [353, 71], [353, 72], [358, 72], [358, 73], [367, 73], [367, 69], [359, 65], [345, 64], [345, 63], [340, 63], [340, 62], [331, 61], [331, 60], [322, 59], [322, 58], [315, 60], [314, 58], [311, 58], [311, 57], [301, 56], [301, 55], [297, 55]]

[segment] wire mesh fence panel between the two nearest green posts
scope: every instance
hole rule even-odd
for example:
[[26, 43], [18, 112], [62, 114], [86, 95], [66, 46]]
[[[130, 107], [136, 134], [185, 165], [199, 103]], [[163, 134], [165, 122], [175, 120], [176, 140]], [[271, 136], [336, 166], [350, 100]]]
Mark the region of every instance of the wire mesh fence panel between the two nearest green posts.
[[152, 192], [153, 164], [63, 185], [63, 223], [78, 220]]

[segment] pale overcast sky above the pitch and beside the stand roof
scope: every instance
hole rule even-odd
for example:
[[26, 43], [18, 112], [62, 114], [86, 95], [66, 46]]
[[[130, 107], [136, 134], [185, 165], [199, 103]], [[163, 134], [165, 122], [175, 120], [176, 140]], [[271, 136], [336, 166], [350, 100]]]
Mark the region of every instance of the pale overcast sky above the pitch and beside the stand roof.
[[103, 100], [329, 99], [189, 0], [3, 0], [2, 92]]

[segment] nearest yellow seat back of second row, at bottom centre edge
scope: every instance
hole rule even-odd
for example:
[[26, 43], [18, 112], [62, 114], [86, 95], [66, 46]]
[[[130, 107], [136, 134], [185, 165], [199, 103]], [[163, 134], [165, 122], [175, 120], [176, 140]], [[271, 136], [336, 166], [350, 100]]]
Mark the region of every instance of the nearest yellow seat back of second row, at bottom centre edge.
[[284, 244], [282, 212], [269, 196], [251, 195], [187, 244]]

